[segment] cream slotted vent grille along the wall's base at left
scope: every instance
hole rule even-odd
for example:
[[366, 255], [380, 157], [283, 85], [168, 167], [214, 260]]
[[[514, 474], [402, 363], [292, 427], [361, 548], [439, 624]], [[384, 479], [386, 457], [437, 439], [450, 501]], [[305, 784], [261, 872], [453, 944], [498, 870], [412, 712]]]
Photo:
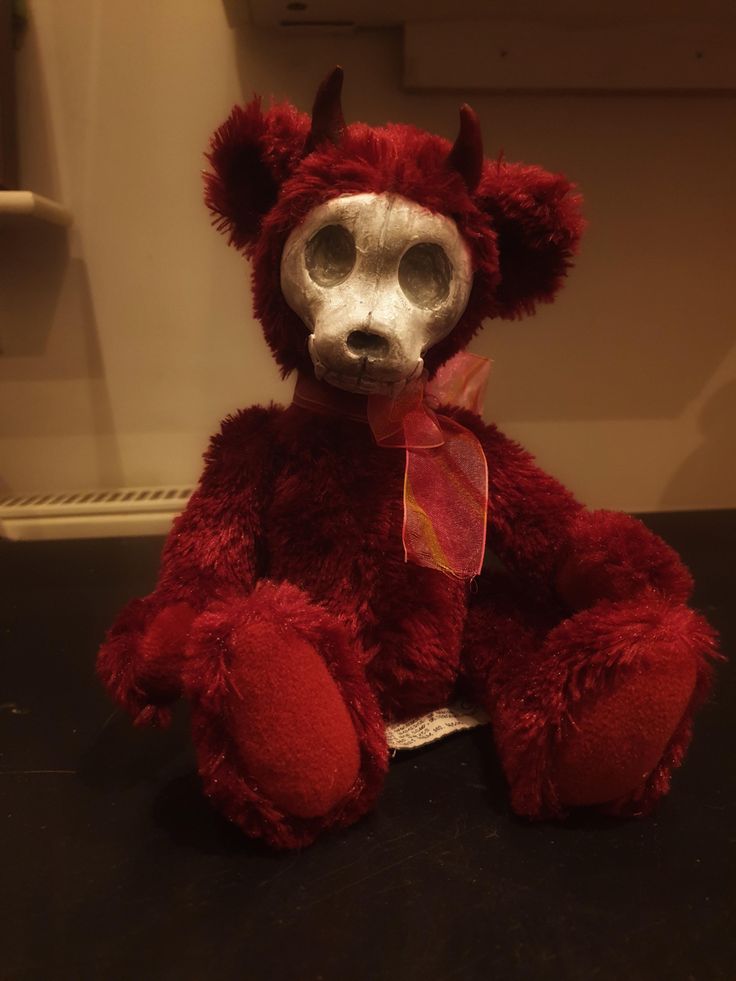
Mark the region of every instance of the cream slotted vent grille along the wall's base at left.
[[0, 497], [0, 536], [15, 541], [162, 535], [192, 487], [119, 487]]

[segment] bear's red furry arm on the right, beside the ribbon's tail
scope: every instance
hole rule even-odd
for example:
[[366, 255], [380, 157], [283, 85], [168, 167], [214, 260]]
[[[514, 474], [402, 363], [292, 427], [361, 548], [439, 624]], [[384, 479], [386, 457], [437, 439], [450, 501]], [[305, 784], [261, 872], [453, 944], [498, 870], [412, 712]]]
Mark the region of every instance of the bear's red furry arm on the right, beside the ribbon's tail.
[[689, 597], [690, 573], [641, 521], [584, 508], [495, 426], [475, 428], [488, 461], [488, 544], [509, 571], [572, 609], [647, 589]]

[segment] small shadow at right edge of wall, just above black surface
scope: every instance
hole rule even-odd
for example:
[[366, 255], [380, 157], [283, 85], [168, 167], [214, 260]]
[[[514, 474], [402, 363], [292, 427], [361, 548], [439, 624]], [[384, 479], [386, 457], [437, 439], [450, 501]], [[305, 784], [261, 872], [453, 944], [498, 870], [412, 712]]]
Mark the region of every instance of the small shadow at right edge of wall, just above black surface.
[[736, 500], [736, 381], [718, 389], [698, 417], [703, 442], [675, 471], [661, 499], [666, 510], [716, 498], [723, 507]]

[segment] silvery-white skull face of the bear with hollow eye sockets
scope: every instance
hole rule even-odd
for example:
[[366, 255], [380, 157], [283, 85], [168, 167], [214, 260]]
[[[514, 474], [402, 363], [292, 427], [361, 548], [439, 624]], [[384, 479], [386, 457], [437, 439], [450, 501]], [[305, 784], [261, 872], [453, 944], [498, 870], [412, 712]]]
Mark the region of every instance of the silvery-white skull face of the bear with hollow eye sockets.
[[396, 194], [309, 213], [281, 258], [286, 302], [309, 328], [317, 378], [397, 395], [463, 314], [473, 273], [454, 222]]

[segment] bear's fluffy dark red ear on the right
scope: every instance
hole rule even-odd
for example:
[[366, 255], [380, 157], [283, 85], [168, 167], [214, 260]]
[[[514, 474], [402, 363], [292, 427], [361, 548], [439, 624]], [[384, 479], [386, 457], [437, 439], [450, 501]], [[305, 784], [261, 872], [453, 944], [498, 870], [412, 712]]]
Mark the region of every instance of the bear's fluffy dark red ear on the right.
[[486, 163], [474, 197], [498, 236], [496, 315], [532, 313], [554, 297], [571, 265], [585, 225], [582, 199], [561, 174], [503, 161]]

